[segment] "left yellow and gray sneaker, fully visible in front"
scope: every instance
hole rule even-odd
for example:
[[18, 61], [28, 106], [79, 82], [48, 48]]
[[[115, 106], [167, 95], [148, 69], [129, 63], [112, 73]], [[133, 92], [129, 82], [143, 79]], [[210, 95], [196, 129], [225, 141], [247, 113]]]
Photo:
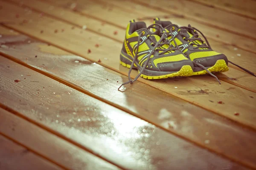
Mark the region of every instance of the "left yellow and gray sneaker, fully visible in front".
[[[154, 26], [157, 26], [158, 35], [150, 31]], [[131, 20], [128, 23], [120, 54], [120, 64], [130, 68], [129, 81], [124, 84], [133, 83], [138, 77], [165, 79], [185, 77], [193, 73], [191, 60], [174, 47], [166, 35], [167, 30], [158, 24], [147, 28], [144, 22]], [[130, 77], [132, 68], [139, 71], [134, 80]]]

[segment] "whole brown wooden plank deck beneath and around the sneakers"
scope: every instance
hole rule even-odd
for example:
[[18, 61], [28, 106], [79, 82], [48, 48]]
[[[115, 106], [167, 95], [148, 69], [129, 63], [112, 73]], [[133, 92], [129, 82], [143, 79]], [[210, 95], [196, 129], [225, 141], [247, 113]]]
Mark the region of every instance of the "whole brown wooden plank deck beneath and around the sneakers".
[[221, 85], [139, 78], [117, 91], [131, 19], [192, 24], [256, 73], [256, 1], [145, 2], [0, 0], [0, 170], [256, 170], [256, 77], [229, 65]]

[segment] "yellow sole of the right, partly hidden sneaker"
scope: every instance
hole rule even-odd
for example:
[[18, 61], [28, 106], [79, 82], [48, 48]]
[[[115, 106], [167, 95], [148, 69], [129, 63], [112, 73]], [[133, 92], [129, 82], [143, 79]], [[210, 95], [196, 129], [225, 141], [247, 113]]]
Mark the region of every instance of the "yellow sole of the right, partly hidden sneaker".
[[[213, 65], [210, 68], [207, 68], [207, 70], [209, 70], [211, 73], [221, 73], [221, 72], [228, 71], [229, 68], [224, 59], [218, 59], [216, 61], [215, 65]], [[208, 74], [208, 72], [205, 70], [196, 71], [196, 72], [193, 72], [192, 74], [190, 74], [189, 76], [202, 75], [202, 74]]]

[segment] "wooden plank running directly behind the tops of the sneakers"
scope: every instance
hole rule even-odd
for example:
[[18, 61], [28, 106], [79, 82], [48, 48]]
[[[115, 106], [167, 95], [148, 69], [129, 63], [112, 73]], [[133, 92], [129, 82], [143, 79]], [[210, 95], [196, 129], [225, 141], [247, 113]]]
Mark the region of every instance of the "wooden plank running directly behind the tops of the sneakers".
[[[52, 5], [55, 5], [56, 10], [58, 10], [58, 7], [56, 7], [56, 5], [58, 5], [58, 6], [67, 8], [70, 11], [72, 11], [70, 9], [71, 3], [69, 0], [55, 0], [55, 1], [49, 1], [48, 3], [46, 3], [46, 2], [48, 2], [48, 0], [38, 1], [39, 4], [42, 3], [42, 4], [44, 4], [43, 6], [47, 6], [47, 8], [40, 8], [41, 11], [44, 11], [46, 13], [51, 13], [51, 14], [54, 13], [55, 16], [61, 17], [61, 14], [63, 14], [63, 13], [49, 10], [49, 6], [52, 6]], [[209, 38], [209, 40], [215, 40], [218, 42], [229, 44], [234, 47], [238, 47], [238, 48], [241, 48], [241, 49], [244, 49], [246, 51], [250, 51], [250, 52], [253, 52], [254, 54], [256, 54], [256, 49], [254, 48], [254, 46], [256, 45], [256, 40], [251, 40], [251, 39], [249, 40], [247, 37], [240, 36], [237, 34], [232, 34], [229, 31], [224, 31], [224, 30], [221, 30], [218, 28], [214, 28], [212, 26], [207, 26], [200, 22], [191, 20], [183, 15], [180, 15], [180, 12], [173, 13], [173, 11], [171, 11], [172, 13], [166, 13], [162, 10], [157, 10], [155, 8], [148, 8], [145, 6], [141, 6], [140, 4], [131, 3], [130, 1], [120, 1], [120, 0], [100, 0], [100, 1], [97, 0], [97, 1], [93, 1], [93, 2], [90, 2], [90, 1], [88, 2], [88, 0], [87, 1], [77, 0], [76, 3], [78, 4], [77, 6], [79, 6], [79, 8], [76, 10], [76, 14], [84, 14], [86, 16], [93, 15], [93, 18], [96, 18], [101, 21], [103, 19], [105, 22], [111, 23], [114, 26], [118, 26], [117, 25], [117, 23], [118, 23], [119, 26], [122, 26], [122, 28], [124, 28], [124, 29], [127, 26], [128, 20], [131, 20], [131, 18], [134, 17], [134, 16], [130, 16], [131, 12], [122, 11], [120, 13], [119, 11], [115, 11], [115, 10], [109, 11], [108, 8], [89, 10], [87, 3], [89, 3], [90, 6], [96, 6], [95, 8], [97, 8], [97, 7], [99, 8], [101, 6], [101, 4], [107, 4], [108, 6], [113, 6], [113, 9], [115, 9], [115, 8], [130, 9], [133, 11], [133, 13], [137, 14], [135, 16], [136, 18], [134, 18], [134, 19], [138, 19], [138, 20], [150, 19], [150, 22], [148, 23], [149, 25], [151, 25], [153, 23], [152, 19], [154, 17], [160, 17], [163, 20], [171, 19], [173, 23], [176, 23], [180, 26], [187, 26], [188, 24], [192, 24], [192, 26], [203, 31], [203, 33], [207, 36], [207, 38]], [[27, 4], [26, 1], [24, 2], [24, 4]], [[38, 9], [37, 3], [29, 3], [27, 5], [31, 6], [32, 8]], [[104, 14], [99, 15], [98, 10], [100, 10]], [[73, 11], [73, 13], [74, 13], [74, 11]], [[109, 17], [109, 14], [111, 14], [111, 17]], [[148, 14], [148, 16], [143, 17], [144, 14]], [[65, 14], [65, 18], [66, 17], [70, 17], [70, 15]], [[128, 17], [130, 17], [130, 19]], [[127, 18], [127, 19], [125, 19], [125, 18]], [[111, 30], [114, 31], [115, 29], [116, 28], [112, 28]], [[102, 31], [104, 31], [104, 29]], [[112, 31], [112, 33], [113, 33], [113, 31]], [[118, 36], [115, 35], [115, 37], [117, 38]], [[120, 41], [123, 41], [123, 34], [122, 34]]]

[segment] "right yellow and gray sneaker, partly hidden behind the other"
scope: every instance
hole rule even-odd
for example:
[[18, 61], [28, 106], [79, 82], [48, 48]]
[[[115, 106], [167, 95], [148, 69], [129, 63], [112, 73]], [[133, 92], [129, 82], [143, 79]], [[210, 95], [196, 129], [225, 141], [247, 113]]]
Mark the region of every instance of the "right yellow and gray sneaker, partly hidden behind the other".
[[[179, 27], [170, 21], [160, 21], [159, 18], [155, 18], [154, 23], [167, 29], [167, 36], [172, 45], [176, 43], [186, 57], [194, 63], [194, 70], [191, 75], [229, 70], [227, 57], [224, 54], [213, 51], [207, 38], [198, 29], [190, 25]], [[199, 37], [197, 31], [204, 37], [206, 43]]]

